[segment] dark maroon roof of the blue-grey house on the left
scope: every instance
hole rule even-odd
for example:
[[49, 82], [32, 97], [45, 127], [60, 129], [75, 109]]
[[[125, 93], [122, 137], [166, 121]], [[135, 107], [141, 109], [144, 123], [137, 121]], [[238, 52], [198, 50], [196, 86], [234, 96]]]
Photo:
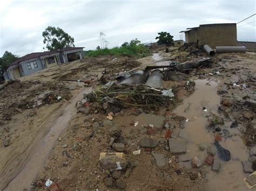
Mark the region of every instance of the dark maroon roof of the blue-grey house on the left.
[[45, 56], [45, 55], [50, 55], [50, 54], [55, 54], [55, 53], [62, 53], [65, 51], [72, 51], [73, 49], [80, 49], [80, 48], [84, 48], [84, 47], [67, 47], [67, 48], [62, 48], [59, 51], [32, 52], [30, 54], [26, 54], [26, 55], [22, 56], [21, 58], [15, 60], [9, 66], [13, 66], [19, 62], [30, 60], [33, 58], [39, 58], [40, 56]]

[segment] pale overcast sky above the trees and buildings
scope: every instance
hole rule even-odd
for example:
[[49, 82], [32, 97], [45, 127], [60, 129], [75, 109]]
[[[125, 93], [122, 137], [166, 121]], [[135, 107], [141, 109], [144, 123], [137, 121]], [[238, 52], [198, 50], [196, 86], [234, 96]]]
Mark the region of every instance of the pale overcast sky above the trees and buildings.
[[[44, 51], [42, 32], [60, 27], [85, 50], [99, 45], [100, 32], [109, 47], [138, 38], [154, 42], [158, 32], [180, 39], [187, 27], [211, 23], [238, 23], [256, 11], [255, 0], [169, 1], [1, 1], [0, 56]], [[249, 24], [247, 24], [249, 23]], [[243, 26], [244, 25], [244, 26]], [[255, 16], [237, 25], [238, 40], [255, 41]], [[184, 34], [183, 39], [185, 40]]]

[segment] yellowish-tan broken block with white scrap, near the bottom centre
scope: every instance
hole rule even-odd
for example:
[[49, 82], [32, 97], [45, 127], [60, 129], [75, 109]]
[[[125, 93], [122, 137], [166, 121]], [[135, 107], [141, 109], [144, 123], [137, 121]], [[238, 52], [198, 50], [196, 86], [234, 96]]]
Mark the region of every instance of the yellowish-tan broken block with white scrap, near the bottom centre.
[[105, 155], [105, 157], [100, 160], [104, 169], [117, 168], [117, 162], [120, 162], [122, 169], [126, 168], [127, 161], [124, 158], [117, 157], [116, 155]]

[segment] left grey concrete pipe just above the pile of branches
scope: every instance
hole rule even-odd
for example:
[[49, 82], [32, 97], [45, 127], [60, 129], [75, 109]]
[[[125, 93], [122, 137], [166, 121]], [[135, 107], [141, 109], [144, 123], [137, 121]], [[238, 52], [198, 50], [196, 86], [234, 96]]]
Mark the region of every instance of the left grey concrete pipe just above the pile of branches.
[[149, 77], [149, 72], [139, 70], [136, 73], [132, 74], [127, 79], [120, 82], [119, 84], [142, 84], [146, 82], [148, 77]]

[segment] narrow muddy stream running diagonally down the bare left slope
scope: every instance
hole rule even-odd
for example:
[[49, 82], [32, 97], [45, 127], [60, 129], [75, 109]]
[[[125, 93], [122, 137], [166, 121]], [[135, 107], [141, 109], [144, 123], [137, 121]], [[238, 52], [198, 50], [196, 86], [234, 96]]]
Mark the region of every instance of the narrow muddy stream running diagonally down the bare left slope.
[[[37, 173], [44, 167], [44, 162], [49, 157], [50, 151], [60, 133], [69, 125], [69, 121], [76, 114], [75, 103], [89, 93], [91, 88], [81, 88], [76, 91], [76, 96], [69, 103], [64, 103], [62, 108], [57, 110], [44, 122], [36, 138], [33, 140], [33, 147], [26, 159], [21, 171], [12, 179], [4, 190], [22, 190], [30, 187]], [[48, 130], [45, 132], [45, 130]]]

